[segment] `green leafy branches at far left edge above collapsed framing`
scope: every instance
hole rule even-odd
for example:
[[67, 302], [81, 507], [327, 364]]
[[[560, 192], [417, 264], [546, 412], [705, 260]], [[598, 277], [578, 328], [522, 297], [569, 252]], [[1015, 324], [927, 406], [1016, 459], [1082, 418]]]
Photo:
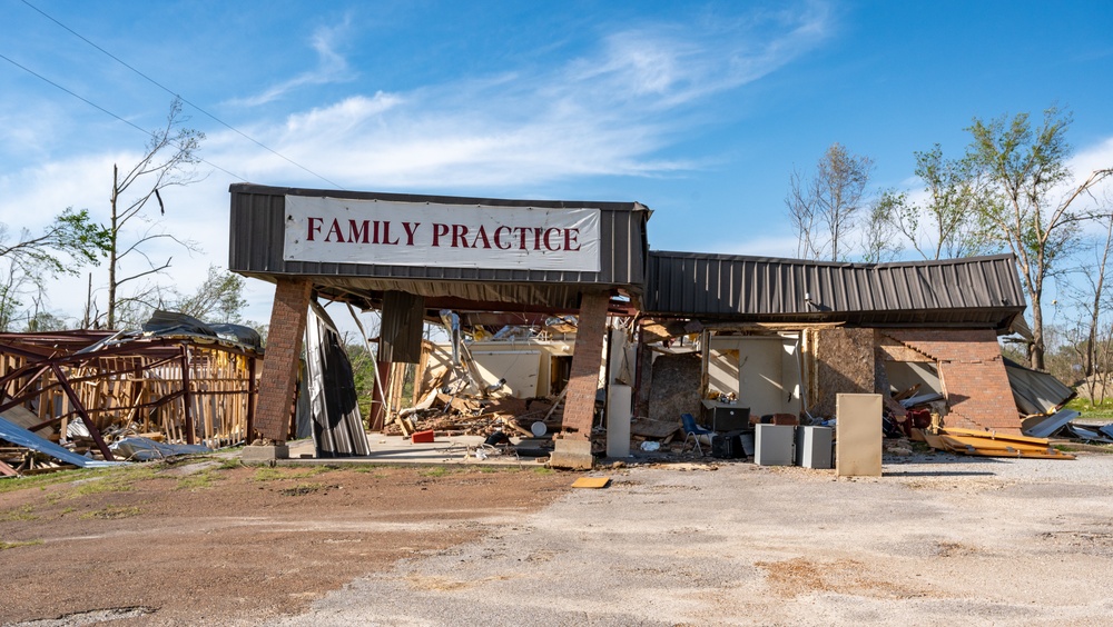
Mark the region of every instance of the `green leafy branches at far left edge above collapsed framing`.
[[[9, 227], [0, 223], [0, 330], [10, 330], [23, 299], [41, 296], [50, 279], [76, 276], [78, 268], [98, 265], [108, 243], [108, 230], [85, 209], [66, 209], [38, 236], [20, 229], [12, 239]], [[40, 302], [36, 298], [35, 315]]]

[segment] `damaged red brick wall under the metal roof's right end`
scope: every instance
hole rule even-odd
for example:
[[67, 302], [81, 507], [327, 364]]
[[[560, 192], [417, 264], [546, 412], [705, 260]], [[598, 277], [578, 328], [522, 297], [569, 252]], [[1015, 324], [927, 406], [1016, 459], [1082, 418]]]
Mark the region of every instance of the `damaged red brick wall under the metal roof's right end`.
[[938, 361], [951, 414], [945, 425], [1021, 431], [997, 334], [992, 329], [885, 330], [884, 335]]

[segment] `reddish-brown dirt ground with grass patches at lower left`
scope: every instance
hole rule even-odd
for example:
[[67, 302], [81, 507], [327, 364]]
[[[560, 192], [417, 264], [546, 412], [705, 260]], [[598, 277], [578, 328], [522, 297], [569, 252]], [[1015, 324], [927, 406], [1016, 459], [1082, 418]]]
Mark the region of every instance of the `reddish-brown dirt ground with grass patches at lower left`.
[[485, 470], [195, 459], [6, 479], [0, 624], [257, 624], [474, 540], [572, 480]]

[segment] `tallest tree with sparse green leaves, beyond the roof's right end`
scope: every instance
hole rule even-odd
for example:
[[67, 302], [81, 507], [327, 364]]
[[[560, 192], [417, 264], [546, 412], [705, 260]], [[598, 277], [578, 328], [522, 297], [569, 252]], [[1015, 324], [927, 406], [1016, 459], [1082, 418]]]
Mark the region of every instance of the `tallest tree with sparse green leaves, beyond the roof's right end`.
[[988, 122], [975, 118], [967, 129], [973, 136], [969, 155], [982, 169], [999, 199], [979, 207], [1020, 262], [1021, 278], [1032, 305], [1032, 336], [1028, 361], [1044, 368], [1043, 293], [1048, 277], [1062, 272], [1060, 261], [1071, 251], [1078, 225], [1091, 215], [1075, 207], [1091, 188], [1113, 169], [1095, 170], [1076, 187], [1068, 186], [1073, 173], [1066, 161], [1071, 147], [1066, 130], [1071, 115], [1057, 108], [1044, 112], [1033, 128], [1027, 113]]

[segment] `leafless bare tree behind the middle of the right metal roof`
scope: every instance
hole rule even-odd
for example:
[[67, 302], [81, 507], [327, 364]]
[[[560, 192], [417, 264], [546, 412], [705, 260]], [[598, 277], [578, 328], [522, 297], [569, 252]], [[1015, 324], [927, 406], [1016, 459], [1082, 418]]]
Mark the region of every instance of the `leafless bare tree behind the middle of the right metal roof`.
[[812, 178], [792, 173], [785, 205], [797, 231], [800, 257], [833, 261], [847, 257], [845, 240], [861, 209], [873, 168], [869, 157], [853, 155], [836, 142], [816, 163]]

